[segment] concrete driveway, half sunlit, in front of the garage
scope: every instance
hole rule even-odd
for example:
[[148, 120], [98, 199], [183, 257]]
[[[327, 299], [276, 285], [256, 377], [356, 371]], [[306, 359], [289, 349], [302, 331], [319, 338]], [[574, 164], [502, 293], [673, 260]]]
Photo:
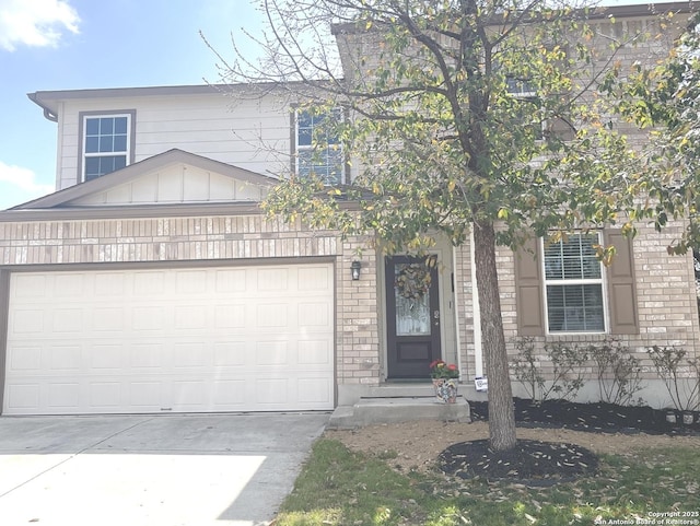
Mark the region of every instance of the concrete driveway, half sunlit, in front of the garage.
[[253, 526], [327, 413], [0, 418], [0, 525]]

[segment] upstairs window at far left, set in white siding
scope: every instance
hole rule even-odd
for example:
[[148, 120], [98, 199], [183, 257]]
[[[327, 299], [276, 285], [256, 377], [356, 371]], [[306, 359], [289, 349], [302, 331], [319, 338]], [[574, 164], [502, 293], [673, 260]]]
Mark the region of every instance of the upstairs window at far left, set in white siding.
[[132, 122], [132, 113], [82, 117], [82, 180], [130, 164]]

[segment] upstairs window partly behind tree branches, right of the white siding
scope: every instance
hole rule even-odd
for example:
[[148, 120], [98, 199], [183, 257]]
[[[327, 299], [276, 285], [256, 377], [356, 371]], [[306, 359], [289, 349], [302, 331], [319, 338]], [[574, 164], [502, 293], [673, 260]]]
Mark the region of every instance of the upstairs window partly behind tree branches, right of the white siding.
[[342, 112], [332, 109], [325, 114], [296, 110], [296, 174], [307, 177], [314, 174], [326, 185], [343, 183], [342, 144], [334, 125], [342, 119]]

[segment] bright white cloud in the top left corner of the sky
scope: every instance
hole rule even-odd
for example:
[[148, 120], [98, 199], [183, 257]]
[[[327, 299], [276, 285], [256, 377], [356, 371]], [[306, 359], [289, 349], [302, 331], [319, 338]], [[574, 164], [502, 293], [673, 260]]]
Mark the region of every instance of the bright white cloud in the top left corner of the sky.
[[55, 47], [61, 35], [78, 33], [80, 17], [66, 0], [1, 0], [0, 49]]

